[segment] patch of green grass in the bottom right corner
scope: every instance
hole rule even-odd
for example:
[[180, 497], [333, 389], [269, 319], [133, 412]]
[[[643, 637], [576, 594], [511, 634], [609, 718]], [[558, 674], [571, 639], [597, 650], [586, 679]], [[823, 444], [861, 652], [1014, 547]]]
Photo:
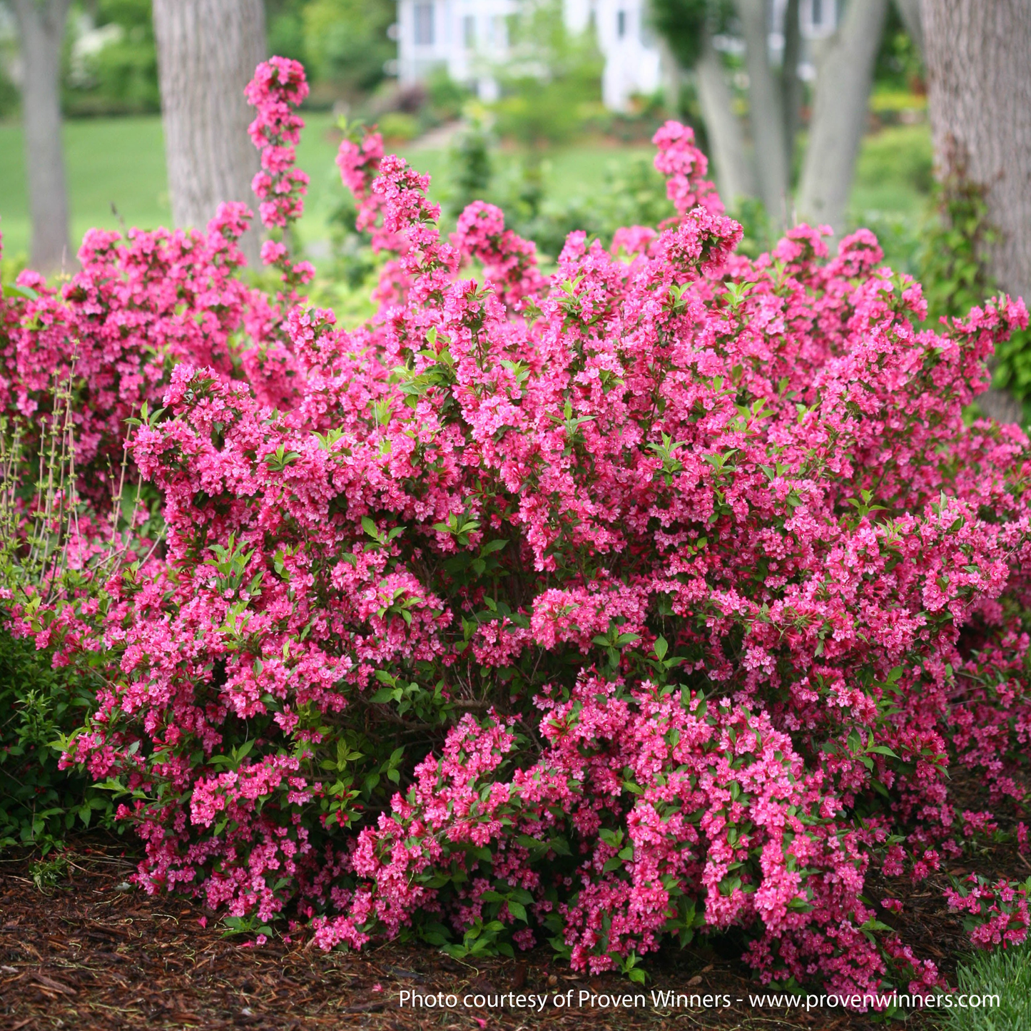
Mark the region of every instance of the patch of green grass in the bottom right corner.
[[1031, 945], [978, 952], [960, 965], [961, 993], [997, 995], [999, 1005], [944, 1010], [943, 1031], [1024, 1031], [1031, 1027]]

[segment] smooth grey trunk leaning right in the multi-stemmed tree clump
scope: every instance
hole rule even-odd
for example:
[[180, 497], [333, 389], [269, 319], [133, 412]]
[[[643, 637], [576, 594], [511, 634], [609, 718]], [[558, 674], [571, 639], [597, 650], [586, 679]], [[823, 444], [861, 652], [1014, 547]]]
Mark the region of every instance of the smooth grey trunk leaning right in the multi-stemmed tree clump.
[[831, 226], [835, 235], [844, 229], [887, 12], [888, 0], [851, 0], [840, 26], [820, 54], [798, 213]]

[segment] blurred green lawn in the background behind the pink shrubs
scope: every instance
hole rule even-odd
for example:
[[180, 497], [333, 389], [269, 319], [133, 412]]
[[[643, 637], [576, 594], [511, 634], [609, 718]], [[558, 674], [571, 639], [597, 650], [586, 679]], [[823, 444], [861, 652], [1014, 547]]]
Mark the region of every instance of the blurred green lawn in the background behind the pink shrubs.
[[[311, 176], [300, 226], [305, 242], [325, 239], [326, 220], [341, 196], [340, 178], [333, 164], [333, 121], [328, 113], [308, 114], [298, 148], [298, 163]], [[121, 220], [127, 226], [142, 228], [167, 225], [170, 208], [158, 117], [69, 122], [65, 126], [65, 153], [73, 244], [91, 226], [118, 229]], [[446, 175], [446, 153], [412, 146], [402, 146], [399, 153], [421, 171], [430, 172], [434, 179], [430, 194], [437, 194]], [[548, 195], [558, 199], [590, 197], [609, 165], [646, 153], [647, 147], [599, 144], [556, 151], [545, 164]], [[503, 152], [500, 160], [506, 158], [516, 160]], [[913, 214], [924, 201], [920, 188], [926, 185], [929, 161], [926, 126], [896, 127], [868, 137], [857, 170], [853, 209], [860, 217], [867, 211]], [[5, 255], [14, 257], [28, 251], [22, 129], [16, 123], [0, 124], [0, 232]]]

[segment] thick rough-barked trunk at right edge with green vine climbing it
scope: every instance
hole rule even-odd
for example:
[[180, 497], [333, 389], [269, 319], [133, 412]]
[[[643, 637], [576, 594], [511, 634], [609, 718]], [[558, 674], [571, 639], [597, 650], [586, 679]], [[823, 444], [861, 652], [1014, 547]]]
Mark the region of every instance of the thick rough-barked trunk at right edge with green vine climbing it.
[[[938, 175], [985, 188], [997, 235], [988, 270], [1031, 301], [1031, 4], [923, 0], [922, 15]], [[1008, 395], [978, 400], [998, 419], [1020, 418]]]

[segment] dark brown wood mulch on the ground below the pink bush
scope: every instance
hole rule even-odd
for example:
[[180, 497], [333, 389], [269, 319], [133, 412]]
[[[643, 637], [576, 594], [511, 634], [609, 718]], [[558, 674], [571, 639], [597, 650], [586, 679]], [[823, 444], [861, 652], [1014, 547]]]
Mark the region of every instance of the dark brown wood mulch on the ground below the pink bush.
[[[302, 942], [245, 947], [200, 927], [201, 906], [174, 896], [130, 889], [130, 860], [121, 844], [90, 839], [69, 853], [61, 883], [40, 889], [25, 860], [0, 863], [0, 1028], [4, 1031], [112, 1031], [119, 1028], [255, 1028], [268, 1031], [369, 1028], [407, 1031], [531, 1031], [590, 1026], [772, 1031], [872, 1029], [883, 1023], [840, 1010], [753, 1007], [761, 994], [732, 943], [670, 950], [650, 957], [644, 988], [618, 975], [576, 976], [542, 949], [521, 959], [460, 963], [425, 945], [386, 944], [361, 954], [322, 953]], [[893, 886], [896, 887], [896, 886]], [[925, 904], [926, 903], [926, 904]], [[925, 882], [892, 918], [921, 955], [939, 962], [962, 950], [961, 932], [943, 912], [937, 885]], [[907, 926], [903, 927], [903, 923]], [[721, 955], [725, 953], [725, 955]], [[942, 964], [953, 973], [947, 961]], [[554, 997], [572, 990], [572, 1008]], [[723, 1008], [654, 1005], [652, 992], [728, 996]], [[447, 1008], [402, 1008], [401, 993], [458, 996]], [[577, 1007], [580, 993], [640, 995], [644, 1005]], [[465, 995], [544, 995], [543, 1015], [530, 1008], [465, 1008]], [[410, 998], [410, 996], [408, 997]], [[740, 1001], [738, 1001], [740, 1000]], [[929, 1015], [906, 1025], [933, 1027]]]

